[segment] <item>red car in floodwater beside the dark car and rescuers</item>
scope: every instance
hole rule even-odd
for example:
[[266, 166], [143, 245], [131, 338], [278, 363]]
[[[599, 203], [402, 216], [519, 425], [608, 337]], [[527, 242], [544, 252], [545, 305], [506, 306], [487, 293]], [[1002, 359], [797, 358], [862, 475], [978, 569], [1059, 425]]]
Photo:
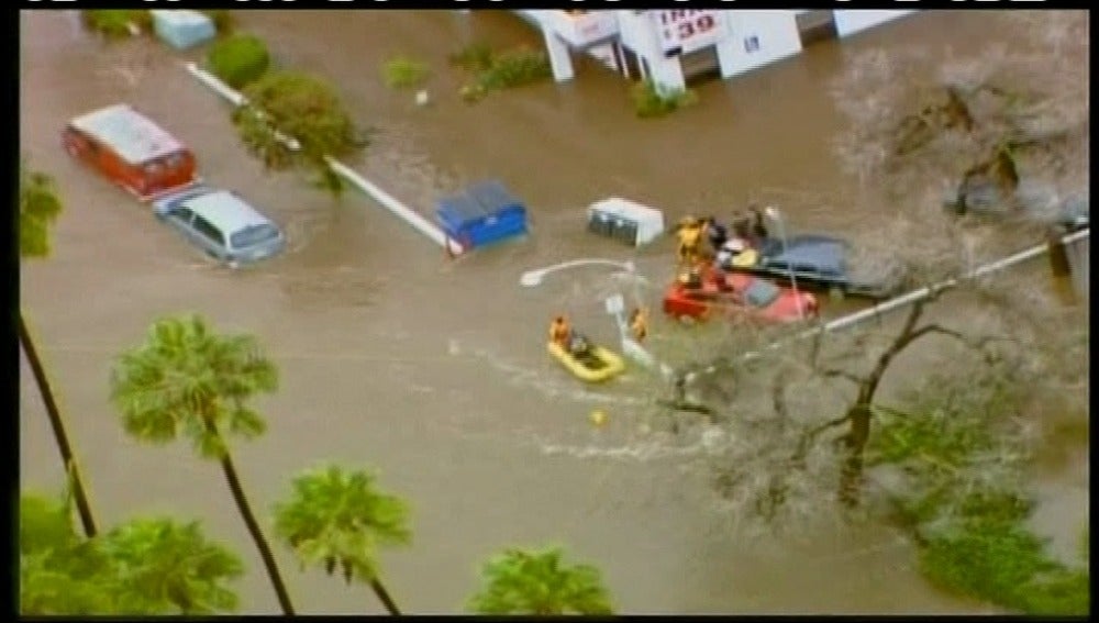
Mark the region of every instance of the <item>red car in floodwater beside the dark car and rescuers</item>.
[[817, 318], [820, 307], [810, 292], [782, 288], [743, 272], [710, 272], [697, 287], [676, 281], [664, 293], [664, 313], [679, 320], [706, 320], [714, 314], [765, 323]]

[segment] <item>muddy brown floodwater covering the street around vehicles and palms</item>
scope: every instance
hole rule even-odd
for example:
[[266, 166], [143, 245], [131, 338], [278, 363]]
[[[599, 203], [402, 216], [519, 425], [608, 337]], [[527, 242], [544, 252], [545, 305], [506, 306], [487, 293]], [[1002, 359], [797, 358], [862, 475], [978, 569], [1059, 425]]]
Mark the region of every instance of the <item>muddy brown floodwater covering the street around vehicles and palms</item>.
[[[66, 201], [54, 254], [22, 268], [22, 301], [66, 410], [103, 523], [173, 513], [206, 522], [251, 569], [243, 611], [276, 603], [215, 466], [181, 443], [137, 446], [108, 402], [112, 358], [162, 314], [195, 311], [223, 331], [258, 335], [281, 370], [259, 405], [269, 432], [235, 447], [262, 511], [291, 475], [318, 461], [377, 468], [407, 497], [414, 543], [384, 555], [384, 578], [408, 612], [456, 612], [488, 555], [514, 544], [566, 544], [600, 566], [631, 613], [987, 612], [932, 590], [911, 547], [885, 529], [822, 530], [808, 543], [746, 543], [722, 532], [690, 447], [639, 427], [652, 379], [628, 375], [598, 390], [544, 353], [548, 316], [567, 311], [599, 341], [613, 325], [606, 276], [575, 271], [521, 289], [519, 274], [575, 257], [632, 252], [584, 232], [584, 207], [622, 196], [669, 219], [728, 213], [756, 197], [782, 201], [807, 230], [842, 230], [853, 212], [814, 209], [842, 193], [831, 155], [841, 127], [829, 84], [857, 49], [978, 49], [999, 36], [977, 13], [921, 14], [844, 43], [699, 89], [668, 120], [633, 116], [626, 84], [582, 60], [578, 79], [457, 96], [447, 54], [473, 38], [541, 44], [506, 12], [253, 11], [241, 26], [270, 42], [279, 64], [336, 81], [378, 130], [358, 170], [426, 215], [433, 199], [477, 179], [506, 180], [531, 208], [533, 235], [452, 262], [370, 200], [341, 202], [290, 174], [267, 174], [244, 152], [225, 104], [146, 41], [104, 46], [70, 12], [21, 15], [21, 145], [53, 174]], [[395, 53], [429, 62], [432, 102], [393, 92], [379, 66]], [[74, 164], [58, 131], [71, 116], [126, 101], [198, 153], [208, 180], [233, 188], [282, 223], [290, 251], [230, 272], [204, 263], [130, 197]], [[808, 199], [807, 199], [808, 198]], [[641, 252], [642, 272], [668, 274], [668, 245]], [[595, 274], [592, 274], [595, 272]], [[650, 304], [655, 291], [645, 296]], [[660, 326], [654, 327], [656, 332]], [[62, 481], [33, 381], [23, 370], [21, 469], [29, 486]], [[604, 409], [609, 425], [587, 415]], [[1085, 489], [1086, 491], [1086, 489]], [[1086, 501], [1085, 501], [1086, 504]], [[269, 524], [268, 524], [269, 525]], [[299, 574], [279, 552], [303, 613], [376, 613], [366, 589]]]

